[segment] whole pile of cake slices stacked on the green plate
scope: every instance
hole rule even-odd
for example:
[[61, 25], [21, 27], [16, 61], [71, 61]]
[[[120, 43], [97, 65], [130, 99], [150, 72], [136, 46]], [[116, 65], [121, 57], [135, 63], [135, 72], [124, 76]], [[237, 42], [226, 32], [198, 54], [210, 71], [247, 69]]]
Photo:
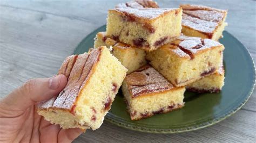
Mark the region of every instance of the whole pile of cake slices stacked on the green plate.
[[185, 90], [221, 90], [224, 46], [218, 40], [226, 15], [202, 5], [161, 9], [145, 0], [109, 10], [94, 48], [110, 48], [128, 69], [122, 91], [132, 120], [182, 108]]

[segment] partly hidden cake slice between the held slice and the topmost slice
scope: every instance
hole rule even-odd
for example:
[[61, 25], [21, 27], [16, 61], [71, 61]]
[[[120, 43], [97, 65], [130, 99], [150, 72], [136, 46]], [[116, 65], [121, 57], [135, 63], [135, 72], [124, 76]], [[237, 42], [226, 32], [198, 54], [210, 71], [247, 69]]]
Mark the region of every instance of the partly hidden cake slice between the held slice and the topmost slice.
[[96, 48], [98, 46], [111, 47], [112, 54], [128, 69], [127, 74], [146, 64], [146, 53], [143, 49], [107, 38], [105, 32], [97, 33], [94, 47]]

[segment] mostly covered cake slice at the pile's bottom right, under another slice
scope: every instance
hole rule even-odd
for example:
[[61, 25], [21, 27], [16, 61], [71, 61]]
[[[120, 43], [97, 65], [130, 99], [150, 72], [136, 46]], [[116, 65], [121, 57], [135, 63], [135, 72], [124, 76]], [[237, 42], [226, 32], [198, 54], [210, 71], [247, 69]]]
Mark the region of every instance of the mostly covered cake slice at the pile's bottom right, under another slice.
[[192, 92], [219, 92], [224, 86], [224, 68], [220, 67], [214, 74], [206, 76], [199, 81], [186, 85], [186, 89]]

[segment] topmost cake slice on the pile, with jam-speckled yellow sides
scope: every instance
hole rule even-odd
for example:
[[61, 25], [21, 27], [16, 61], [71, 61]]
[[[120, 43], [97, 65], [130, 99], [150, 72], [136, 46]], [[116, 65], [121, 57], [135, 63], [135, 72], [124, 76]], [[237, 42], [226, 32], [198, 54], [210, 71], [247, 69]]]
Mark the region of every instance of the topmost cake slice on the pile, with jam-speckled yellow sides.
[[106, 35], [131, 46], [153, 51], [181, 33], [181, 9], [112, 9]]

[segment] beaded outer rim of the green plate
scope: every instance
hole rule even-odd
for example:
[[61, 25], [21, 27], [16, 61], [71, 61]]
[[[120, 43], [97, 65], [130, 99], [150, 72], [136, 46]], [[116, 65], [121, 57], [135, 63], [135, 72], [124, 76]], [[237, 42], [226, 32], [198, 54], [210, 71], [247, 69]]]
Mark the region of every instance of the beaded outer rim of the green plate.
[[[99, 28], [103, 28], [106, 25], [100, 26], [98, 28], [96, 28], [96, 30], [92, 31], [90, 34], [86, 35], [85, 38], [82, 39], [82, 41], [79, 42], [79, 44], [76, 46], [75, 50], [73, 51], [73, 53], [75, 53], [76, 49], [83, 43], [83, 41], [89, 37], [90, 35], [92, 35], [93, 33], [95, 33]], [[225, 32], [227, 32], [225, 30]], [[236, 37], [234, 37], [230, 32], [227, 32], [229, 35], [231, 35], [235, 40], [237, 40], [239, 42], [239, 44], [241, 44], [242, 46], [245, 47], [245, 51], [247, 52], [247, 54], [250, 56], [250, 61], [248, 62], [252, 62], [252, 68], [253, 68], [253, 82], [252, 85], [250, 87], [250, 91], [247, 93], [246, 98], [244, 99], [244, 101], [242, 101], [240, 104], [237, 104], [238, 106], [235, 106], [235, 108], [232, 108], [230, 111], [226, 112], [225, 114], [223, 114], [222, 116], [212, 119], [210, 121], [206, 121], [204, 123], [200, 123], [198, 125], [192, 125], [192, 126], [188, 126], [188, 127], [183, 127], [183, 128], [169, 128], [169, 129], [162, 129], [162, 128], [149, 128], [149, 127], [142, 127], [142, 126], [136, 126], [136, 125], [129, 125], [129, 124], [125, 124], [123, 121], [118, 121], [118, 119], [114, 119], [112, 113], [107, 113], [105, 120], [117, 125], [119, 127], [124, 127], [133, 131], [139, 131], [139, 132], [146, 132], [146, 133], [157, 133], [157, 134], [171, 134], [171, 133], [181, 133], [181, 132], [188, 132], [188, 131], [195, 131], [195, 130], [199, 130], [200, 128], [205, 128], [214, 124], [219, 123], [220, 121], [230, 117], [231, 115], [233, 115], [235, 112], [237, 112], [238, 110], [240, 110], [242, 108], [242, 106], [245, 105], [245, 103], [248, 101], [248, 99], [251, 97], [252, 92], [254, 90], [254, 86], [255, 86], [255, 65], [254, 65], [254, 61], [252, 59], [251, 53], [248, 51], [247, 47], [242, 44], [241, 41], [239, 41]]]

